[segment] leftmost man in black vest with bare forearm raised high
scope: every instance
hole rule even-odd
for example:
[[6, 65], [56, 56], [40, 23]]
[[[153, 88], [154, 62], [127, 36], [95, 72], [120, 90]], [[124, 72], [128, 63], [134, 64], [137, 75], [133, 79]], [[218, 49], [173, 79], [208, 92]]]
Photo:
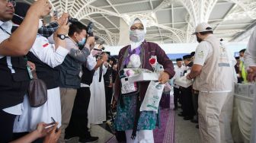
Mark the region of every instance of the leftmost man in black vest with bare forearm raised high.
[[0, 1], [0, 142], [11, 141], [14, 119], [22, 113], [21, 104], [30, 80], [23, 56], [36, 39], [40, 17], [51, 9], [47, 0], [34, 2], [21, 27], [11, 33], [15, 5], [14, 0]]

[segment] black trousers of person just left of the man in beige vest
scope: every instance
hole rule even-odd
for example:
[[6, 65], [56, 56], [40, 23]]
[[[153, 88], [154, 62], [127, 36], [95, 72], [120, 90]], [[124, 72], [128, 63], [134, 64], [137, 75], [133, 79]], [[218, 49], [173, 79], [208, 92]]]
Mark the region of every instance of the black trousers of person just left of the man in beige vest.
[[184, 116], [194, 116], [194, 106], [192, 100], [192, 86], [181, 89], [182, 107]]

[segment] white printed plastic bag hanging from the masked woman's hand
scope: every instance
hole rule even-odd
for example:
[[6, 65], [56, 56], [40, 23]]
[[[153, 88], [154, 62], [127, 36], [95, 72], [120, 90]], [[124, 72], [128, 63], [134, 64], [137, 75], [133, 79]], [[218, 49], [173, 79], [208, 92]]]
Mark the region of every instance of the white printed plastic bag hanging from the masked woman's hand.
[[159, 84], [159, 82], [150, 81], [149, 87], [146, 91], [146, 95], [139, 111], [155, 111], [157, 113], [164, 87], [165, 84]]

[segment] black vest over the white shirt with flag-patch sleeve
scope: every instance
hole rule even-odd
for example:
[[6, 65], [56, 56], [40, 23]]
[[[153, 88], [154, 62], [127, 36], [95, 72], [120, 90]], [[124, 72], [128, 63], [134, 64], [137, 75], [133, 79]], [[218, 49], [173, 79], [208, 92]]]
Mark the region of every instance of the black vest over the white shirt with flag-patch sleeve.
[[46, 65], [38, 59], [32, 52], [27, 53], [27, 59], [30, 62], [34, 62], [37, 68], [37, 78], [44, 81], [47, 89], [53, 89], [59, 87], [59, 71]]

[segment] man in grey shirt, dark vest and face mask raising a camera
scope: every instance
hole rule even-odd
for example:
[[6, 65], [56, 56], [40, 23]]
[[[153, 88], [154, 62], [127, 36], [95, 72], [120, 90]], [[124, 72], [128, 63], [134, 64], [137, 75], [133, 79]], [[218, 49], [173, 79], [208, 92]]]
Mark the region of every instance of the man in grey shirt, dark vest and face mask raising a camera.
[[[90, 45], [94, 44], [94, 37], [87, 37], [86, 26], [75, 21], [69, 26], [69, 37], [65, 39], [66, 48], [70, 49], [62, 65], [59, 65], [60, 98], [62, 105], [62, 133], [59, 142], [64, 141], [65, 129], [69, 125], [70, 116], [75, 100], [76, 91], [80, 88], [79, 73], [81, 64], [90, 55]], [[86, 43], [85, 39], [87, 37]], [[81, 50], [78, 47], [83, 47]]]

